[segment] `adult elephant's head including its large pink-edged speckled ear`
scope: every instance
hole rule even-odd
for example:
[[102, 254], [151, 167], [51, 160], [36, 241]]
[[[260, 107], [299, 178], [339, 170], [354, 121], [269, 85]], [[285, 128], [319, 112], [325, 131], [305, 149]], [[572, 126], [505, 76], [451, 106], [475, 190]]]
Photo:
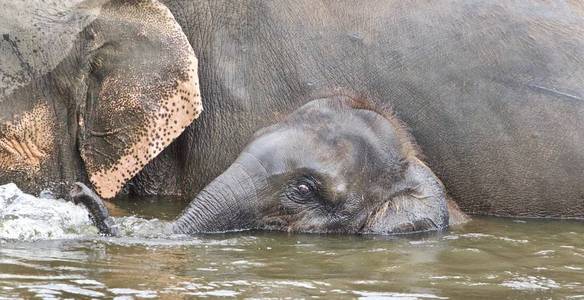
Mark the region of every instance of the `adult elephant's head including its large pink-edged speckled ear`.
[[157, 0], [3, 4], [0, 182], [105, 198], [198, 117], [197, 59]]

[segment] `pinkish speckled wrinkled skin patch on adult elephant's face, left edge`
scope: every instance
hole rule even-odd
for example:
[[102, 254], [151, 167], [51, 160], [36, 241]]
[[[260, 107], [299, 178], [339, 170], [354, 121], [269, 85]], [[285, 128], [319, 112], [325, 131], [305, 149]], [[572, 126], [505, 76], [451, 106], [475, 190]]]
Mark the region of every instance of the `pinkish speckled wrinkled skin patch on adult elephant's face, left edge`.
[[44, 104], [0, 124], [0, 170], [37, 173], [53, 152], [53, 129], [53, 116]]

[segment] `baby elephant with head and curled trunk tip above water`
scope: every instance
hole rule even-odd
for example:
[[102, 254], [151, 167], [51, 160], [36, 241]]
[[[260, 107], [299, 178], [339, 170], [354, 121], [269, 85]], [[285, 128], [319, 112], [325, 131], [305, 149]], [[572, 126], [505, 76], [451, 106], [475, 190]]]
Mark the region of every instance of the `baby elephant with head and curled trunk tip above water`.
[[[77, 183], [71, 196], [102, 233], [117, 234], [89, 188]], [[463, 216], [391, 113], [332, 96], [258, 131], [169, 231], [401, 234], [447, 228], [449, 208]]]

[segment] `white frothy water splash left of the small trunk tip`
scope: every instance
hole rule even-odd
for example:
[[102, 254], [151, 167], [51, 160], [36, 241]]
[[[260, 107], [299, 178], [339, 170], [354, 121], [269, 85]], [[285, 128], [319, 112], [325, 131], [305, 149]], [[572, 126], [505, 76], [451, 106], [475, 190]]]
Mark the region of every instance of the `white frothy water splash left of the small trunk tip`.
[[15, 184], [0, 186], [0, 240], [47, 240], [98, 236], [87, 210], [63, 199], [22, 192]]

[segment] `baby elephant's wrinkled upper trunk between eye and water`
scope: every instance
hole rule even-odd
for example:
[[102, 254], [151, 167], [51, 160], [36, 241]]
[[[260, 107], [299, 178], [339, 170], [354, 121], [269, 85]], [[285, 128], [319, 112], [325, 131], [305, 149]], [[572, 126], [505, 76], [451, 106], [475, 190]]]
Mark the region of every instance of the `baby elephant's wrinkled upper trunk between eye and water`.
[[254, 227], [263, 176], [234, 163], [207, 185], [173, 223], [177, 234], [227, 232]]

